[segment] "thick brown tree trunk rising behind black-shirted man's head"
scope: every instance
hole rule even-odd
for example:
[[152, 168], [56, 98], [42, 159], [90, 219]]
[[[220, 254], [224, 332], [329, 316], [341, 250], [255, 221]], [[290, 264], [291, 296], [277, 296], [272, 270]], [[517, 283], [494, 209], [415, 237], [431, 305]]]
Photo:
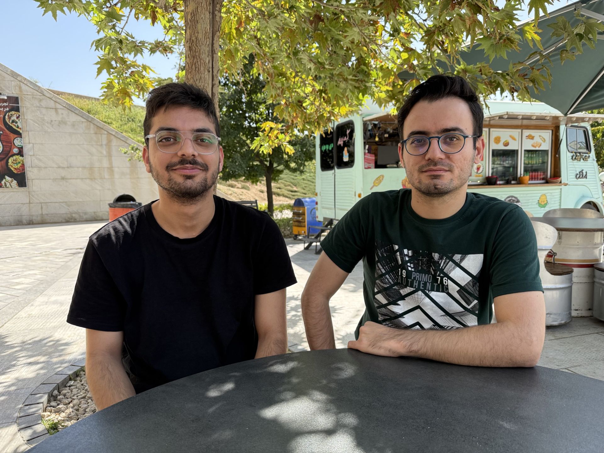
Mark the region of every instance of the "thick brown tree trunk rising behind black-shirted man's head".
[[218, 44], [222, 0], [184, 0], [185, 82], [205, 89], [218, 114]]

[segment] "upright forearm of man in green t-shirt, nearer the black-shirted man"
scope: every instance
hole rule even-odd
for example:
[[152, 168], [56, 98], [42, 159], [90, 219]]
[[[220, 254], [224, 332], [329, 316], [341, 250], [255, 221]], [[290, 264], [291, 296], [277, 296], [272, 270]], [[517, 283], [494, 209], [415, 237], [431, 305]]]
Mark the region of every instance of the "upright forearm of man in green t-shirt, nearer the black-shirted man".
[[303, 292], [301, 305], [306, 339], [310, 349], [335, 349], [336, 342], [333, 337], [329, 298]]

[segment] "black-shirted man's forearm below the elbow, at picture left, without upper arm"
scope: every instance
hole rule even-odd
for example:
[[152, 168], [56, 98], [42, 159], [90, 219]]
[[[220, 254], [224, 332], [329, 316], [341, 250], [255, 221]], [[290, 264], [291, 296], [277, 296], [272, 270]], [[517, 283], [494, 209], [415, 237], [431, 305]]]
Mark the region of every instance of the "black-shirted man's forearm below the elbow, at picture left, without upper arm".
[[106, 354], [86, 356], [86, 380], [98, 410], [135, 395], [120, 358]]

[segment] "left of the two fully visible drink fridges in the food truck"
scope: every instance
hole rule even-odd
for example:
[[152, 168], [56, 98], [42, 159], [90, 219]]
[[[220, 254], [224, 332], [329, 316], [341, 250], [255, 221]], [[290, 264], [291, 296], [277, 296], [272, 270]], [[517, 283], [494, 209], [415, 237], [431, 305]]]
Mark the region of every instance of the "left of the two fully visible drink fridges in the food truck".
[[490, 174], [498, 176], [498, 184], [518, 179], [520, 130], [490, 129]]

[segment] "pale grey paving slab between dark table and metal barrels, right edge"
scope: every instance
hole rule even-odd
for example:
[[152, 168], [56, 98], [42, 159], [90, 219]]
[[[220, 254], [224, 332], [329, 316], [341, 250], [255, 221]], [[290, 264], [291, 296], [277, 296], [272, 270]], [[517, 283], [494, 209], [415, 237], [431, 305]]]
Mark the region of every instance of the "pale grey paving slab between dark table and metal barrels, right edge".
[[596, 361], [604, 361], [604, 336], [591, 333], [545, 341], [538, 365], [574, 369]]

